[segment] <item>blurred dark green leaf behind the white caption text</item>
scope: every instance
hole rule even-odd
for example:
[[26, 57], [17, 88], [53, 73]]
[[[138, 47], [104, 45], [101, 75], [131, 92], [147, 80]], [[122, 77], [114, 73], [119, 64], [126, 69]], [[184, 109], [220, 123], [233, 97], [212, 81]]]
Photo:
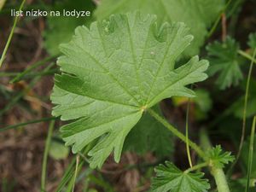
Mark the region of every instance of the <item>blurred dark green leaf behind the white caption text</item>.
[[44, 30], [44, 48], [47, 49], [50, 55], [60, 54], [59, 44], [67, 43], [71, 40], [73, 31], [77, 26], [89, 26], [93, 20], [90, 17], [67, 17], [62, 16], [63, 9], [65, 10], [89, 10], [95, 8], [91, 0], [76, 0], [76, 1], [61, 1], [55, 3], [51, 10], [58, 10], [61, 16], [48, 16], [46, 20], [47, 28]]

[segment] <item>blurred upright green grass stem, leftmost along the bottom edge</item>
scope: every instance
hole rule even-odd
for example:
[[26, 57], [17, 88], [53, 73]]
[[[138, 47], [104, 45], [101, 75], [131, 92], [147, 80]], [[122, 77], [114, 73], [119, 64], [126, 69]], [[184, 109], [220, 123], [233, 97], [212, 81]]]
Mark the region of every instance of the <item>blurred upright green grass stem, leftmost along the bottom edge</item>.
[[45, 184], [46, 184], [46, 171], [47, 171], [47, 158], [49, 153], [49, 145], [51, 141], [52, 132], [55, 127], [55, 120], [52, 120], [49, 124], [49, 131], [46, 138], [45, 148], [44, 148], [44, 159], [43, 159], [43, 166], [42, 166], [42, 175], [41, 175], [41, 192], [46, 191], [45, 190]]

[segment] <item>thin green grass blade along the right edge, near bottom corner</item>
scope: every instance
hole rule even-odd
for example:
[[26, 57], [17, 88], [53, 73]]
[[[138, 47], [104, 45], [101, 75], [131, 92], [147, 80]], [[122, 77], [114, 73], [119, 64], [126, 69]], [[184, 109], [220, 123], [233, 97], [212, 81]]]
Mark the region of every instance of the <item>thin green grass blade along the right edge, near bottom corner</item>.
[[256, 116], [253, 118], [253, 125], [252, 125], [252, 131], [251, 131], [251, 137], [250, 137], [250, 146], [249, 146], [249, 155], [248, 155], [248, 170], [247, 170], [247, 186], [246, 186], [246, 192], [249, 189], [250, 186], [250, 178], [252, 173], [252, 166], [253, 166], [253, 145], [254, 145], [254, 134], [255, 134], [255, 124], [256, 124]]

